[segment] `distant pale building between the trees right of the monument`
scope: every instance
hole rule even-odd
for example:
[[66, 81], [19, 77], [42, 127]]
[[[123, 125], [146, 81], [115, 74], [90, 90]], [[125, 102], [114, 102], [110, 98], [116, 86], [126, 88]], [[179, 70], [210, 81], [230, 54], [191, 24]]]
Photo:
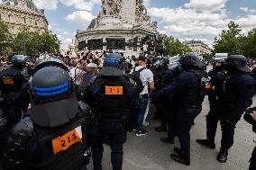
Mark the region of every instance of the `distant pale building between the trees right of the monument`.
[[192, 49], [193, 53], [197, 53], [197, 55], [200, 57], [211, 53], [211, 48], [209, 48], [206, 43], [201, 40], [186, 40], [184, 43], [186, 43], [187, 46]]

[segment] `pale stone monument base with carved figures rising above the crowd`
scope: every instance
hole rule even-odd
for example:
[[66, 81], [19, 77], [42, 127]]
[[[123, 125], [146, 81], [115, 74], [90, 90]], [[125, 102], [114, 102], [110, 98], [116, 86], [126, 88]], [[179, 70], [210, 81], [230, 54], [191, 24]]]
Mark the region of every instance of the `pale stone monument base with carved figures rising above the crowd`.
[[87, 31], [77, 31], [78, 51], [109, 50], [128, 55], [141, 51], [142, 39], [157, 32], [143, 0], [102, 0], [101, 11]]

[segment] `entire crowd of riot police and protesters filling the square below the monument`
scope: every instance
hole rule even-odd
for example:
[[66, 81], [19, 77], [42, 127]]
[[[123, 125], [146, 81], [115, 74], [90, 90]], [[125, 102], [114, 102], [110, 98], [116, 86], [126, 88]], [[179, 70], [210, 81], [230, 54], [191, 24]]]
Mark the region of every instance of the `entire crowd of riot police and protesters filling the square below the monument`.
[[[156, 105], [157, 131], [168, 131], [164, 143], [180, 148], [171, 158], [190, 165], [190, 130], [208, 95], [206, 139], [197, 143], [215, 149], [217, 122], [222, 142], [217, 160], [225, 163], [233, 146], [235, 125], [252, 104], [255, 74], [247, 58], [230, 55], [206, 64], [194, 54], [170, 58], [140, 55], [123, 58], [112, 52], [84, 52], [76, 57], [14, 55], [1, 71], [1, 166], [13, 169], [85, 170], [90, 157], [101, 170], [104, 143], [112, 150], [114, 170], [123, 165], [126, 133], [147, 135], [150, 103]], [[5, 60], [1, 60], [1, 65]], [[2, 100], [3, 99], [3, 100]], [[256, 109], [244, 119], [256, 126]], [[255, 169], [256, 149], [250, 170]]]

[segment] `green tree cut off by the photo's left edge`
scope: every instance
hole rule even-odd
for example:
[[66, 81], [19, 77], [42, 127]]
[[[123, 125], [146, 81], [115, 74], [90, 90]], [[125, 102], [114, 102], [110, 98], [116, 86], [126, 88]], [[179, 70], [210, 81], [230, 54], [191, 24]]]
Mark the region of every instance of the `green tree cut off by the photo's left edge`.
[[5, 53], [12, 44], [13, 36], [5, 22], [0, 22], [0, 53]]

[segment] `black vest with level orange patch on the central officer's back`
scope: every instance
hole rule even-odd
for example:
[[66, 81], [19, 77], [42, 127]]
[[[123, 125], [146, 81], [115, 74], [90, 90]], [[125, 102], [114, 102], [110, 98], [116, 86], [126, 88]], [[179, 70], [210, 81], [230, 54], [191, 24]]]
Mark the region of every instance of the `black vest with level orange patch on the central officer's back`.
[[100, 121], [123, 121], [129, 113], [128, 85], [123, 76], [96, 79], [100, 88], [95, 96], [94, 112]]

